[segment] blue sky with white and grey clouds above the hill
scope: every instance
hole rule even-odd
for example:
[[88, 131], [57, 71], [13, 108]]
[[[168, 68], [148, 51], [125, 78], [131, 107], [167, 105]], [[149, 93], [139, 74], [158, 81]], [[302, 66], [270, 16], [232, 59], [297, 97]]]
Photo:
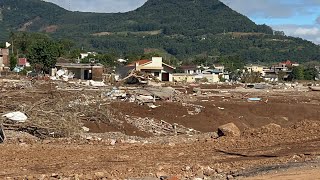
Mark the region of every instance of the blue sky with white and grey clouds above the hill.
[[[87, 12], [126, 12], [146, 0], [46, 0], [66, 9]], [[221, 0], [258, 24], [320, 44], [320, 0]]]

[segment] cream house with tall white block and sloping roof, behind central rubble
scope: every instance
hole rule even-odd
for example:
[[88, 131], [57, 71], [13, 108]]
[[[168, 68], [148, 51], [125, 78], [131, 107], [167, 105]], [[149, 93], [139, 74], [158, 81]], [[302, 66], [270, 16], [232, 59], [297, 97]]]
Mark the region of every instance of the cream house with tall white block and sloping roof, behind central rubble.
[[162, 57], [152, 57], [151, 60], [139, 60], [127, 66], [129, 69], [135, 69], [144, 73], [152, 74], [160, 81], [173, 81], [173, 71], [176, 69], [163, 62]]

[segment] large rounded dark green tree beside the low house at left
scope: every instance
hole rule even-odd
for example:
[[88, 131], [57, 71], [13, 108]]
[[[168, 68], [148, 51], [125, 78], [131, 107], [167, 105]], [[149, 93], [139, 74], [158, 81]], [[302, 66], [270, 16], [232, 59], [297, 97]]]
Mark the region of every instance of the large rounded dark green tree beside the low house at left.
[[37, 65], [45, 73], [50, 68], [55, 67], [57, 58], [59, 57], [59, 46], [50, 39], [43, 39], [33, 42], [28, 49], [27, 58], [32, 65]]

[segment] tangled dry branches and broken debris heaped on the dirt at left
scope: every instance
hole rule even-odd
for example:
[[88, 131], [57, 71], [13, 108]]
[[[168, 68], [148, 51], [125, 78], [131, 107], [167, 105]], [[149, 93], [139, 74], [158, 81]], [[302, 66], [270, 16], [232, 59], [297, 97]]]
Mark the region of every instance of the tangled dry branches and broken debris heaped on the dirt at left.
[[156, 100], [177, 100], [177, 92], [173, 88], [123, 88], [120, 90], [92, 87], [84, 89], [73, 86], [72, 89], [70, 85], [59, 83], [7, 82], [5, 88], [11, 90], [1, 94], [0, 101], [3, 104], [1, 111], [3, 113], [23, 112], [28, 120], [17, 123], [2, 118], [5, 130], [24, 131], [42, 139], [81, 134], [86, 128], [84, 125], [90, 123], [104, 124], [110, 131], [138, 136], [196, 133], [193, 129], [169, 124], [163, 120], [130, 117], [111, 105], [111, 102], [126, 101], [155, 108], [157, 106], [153, 103]]

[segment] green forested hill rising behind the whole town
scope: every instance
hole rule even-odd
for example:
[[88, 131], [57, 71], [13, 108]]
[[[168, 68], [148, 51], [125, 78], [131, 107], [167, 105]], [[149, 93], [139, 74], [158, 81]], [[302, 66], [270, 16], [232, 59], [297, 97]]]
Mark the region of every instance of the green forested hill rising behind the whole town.
[[71, 12], [41, 0], [0, 0], [0, 8], [2, 41], [10, 31], [44, 32], [89, 50], [158, 49], [179, 59], [238, 55], [249, 62], [308, 61], [319, 54], [313, 43], [274, 36], [219, 0], [148, 0], [127, 13]]

